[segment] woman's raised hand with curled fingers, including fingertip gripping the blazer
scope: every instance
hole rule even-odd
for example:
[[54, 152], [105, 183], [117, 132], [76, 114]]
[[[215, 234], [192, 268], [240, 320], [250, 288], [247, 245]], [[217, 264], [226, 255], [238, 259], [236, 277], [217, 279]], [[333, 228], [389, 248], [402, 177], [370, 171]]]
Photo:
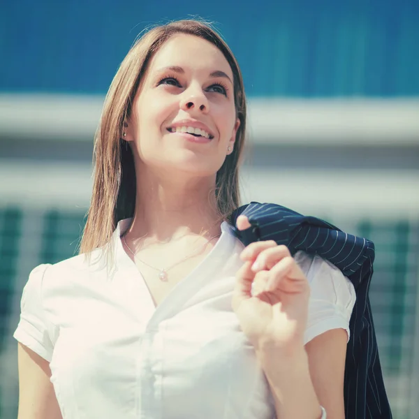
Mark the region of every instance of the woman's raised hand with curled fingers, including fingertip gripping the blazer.
[[[239, 230], [249, 227], [246, 216], [237, 218]], [[302, 348], [310, 288], [288, 248], [274, 241], [254, 242], [241, 258], [232, 307], [243, 332], [256, 350]]]

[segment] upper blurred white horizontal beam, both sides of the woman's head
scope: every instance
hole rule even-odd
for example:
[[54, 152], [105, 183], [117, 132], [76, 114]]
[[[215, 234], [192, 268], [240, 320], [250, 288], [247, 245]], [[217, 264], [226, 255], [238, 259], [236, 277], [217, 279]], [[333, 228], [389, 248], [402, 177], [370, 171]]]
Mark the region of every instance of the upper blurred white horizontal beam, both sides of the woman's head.
[[[103, 96], [0, 94], [0, 138], [91, 141]], [[249, 99], [253, 142], [419, 145], [419, 98]]]

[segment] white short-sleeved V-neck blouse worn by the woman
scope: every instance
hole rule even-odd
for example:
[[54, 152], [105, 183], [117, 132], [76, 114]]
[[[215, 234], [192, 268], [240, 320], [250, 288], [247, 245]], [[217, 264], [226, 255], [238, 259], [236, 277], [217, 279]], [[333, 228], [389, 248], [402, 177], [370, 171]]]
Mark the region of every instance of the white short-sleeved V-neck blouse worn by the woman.
[[[156, 308], [112, 235], [109, 269], [92, 255], [30, 274], [14, 337], [50, 362], [64, 419], [272, 419], [272, 395], [231, 309], [244, 248], [228, 223], [214, 248]], [[311, 284], [305, 341], [344, 328], [351, 282], [318, 256], [295, 256]]]

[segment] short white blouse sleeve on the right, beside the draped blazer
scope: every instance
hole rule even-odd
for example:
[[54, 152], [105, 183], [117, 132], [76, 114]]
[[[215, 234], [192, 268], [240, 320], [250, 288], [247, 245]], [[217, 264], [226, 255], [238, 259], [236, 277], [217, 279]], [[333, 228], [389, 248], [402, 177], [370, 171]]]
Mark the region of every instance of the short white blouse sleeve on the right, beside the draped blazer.
[[339, 328], [346, 330], [349, 341], [349, 321], [356, 300], [352, 282], [335, 265], [318, 255], [299, 251], [295, 260], [311, 288], [304, 344], [328, 330]]

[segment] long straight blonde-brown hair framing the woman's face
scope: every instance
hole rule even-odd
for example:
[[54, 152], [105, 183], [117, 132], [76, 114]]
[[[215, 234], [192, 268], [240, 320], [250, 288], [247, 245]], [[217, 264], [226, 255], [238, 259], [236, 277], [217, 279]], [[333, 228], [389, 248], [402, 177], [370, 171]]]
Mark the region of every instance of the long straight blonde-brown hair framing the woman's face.
[[94, 139], [94, 185], [80, 253], [89, 253], [110, 242], [118, 221], [135, 210], [135, 166], [131, 147], [122, 139], [124, 122], [131, 115], [135, 93], [150, 59], [175, 34], [190, 34], [219, 48], [233, 71], [234, 99], [240, 127], [233, 152], [216, 174], [216, 205], [226, 219], [240, 205], [239, 166], [246, 132], [246, 98], [242, 73], [221, 36], [200, 20], [179, 20], [154, 27], [139, 38], [119, 66], [105, 97], [101, 122]]

